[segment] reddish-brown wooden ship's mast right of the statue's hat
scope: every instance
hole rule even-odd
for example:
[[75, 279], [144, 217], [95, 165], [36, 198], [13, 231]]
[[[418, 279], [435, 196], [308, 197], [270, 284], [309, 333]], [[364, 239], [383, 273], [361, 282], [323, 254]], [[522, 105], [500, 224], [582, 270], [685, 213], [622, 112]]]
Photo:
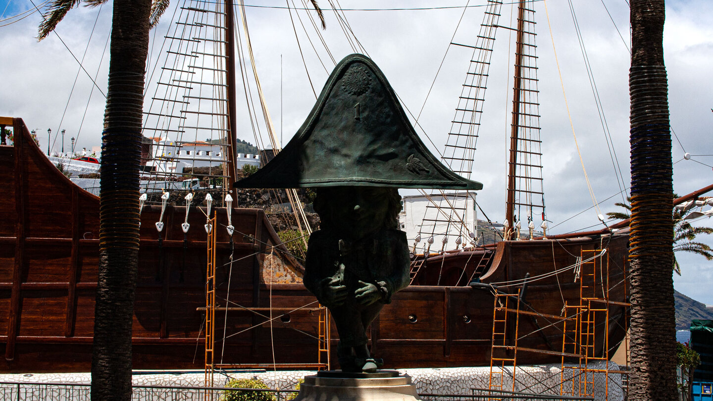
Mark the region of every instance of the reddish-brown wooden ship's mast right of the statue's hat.
[[511, 227], [514, 227], [515, 209], [515, 167], [518, 152], [518, 133], [520, 131], [520, 95], [523, 76], [523, 31], [525, 25], [525, 0], [520, 0], [518, 5], [518, 38], [515, 49], [515, 77], [513, 78], [513, 122], [510, 135], [510, 161], [508, 164], [508, 196], [505, 218]]

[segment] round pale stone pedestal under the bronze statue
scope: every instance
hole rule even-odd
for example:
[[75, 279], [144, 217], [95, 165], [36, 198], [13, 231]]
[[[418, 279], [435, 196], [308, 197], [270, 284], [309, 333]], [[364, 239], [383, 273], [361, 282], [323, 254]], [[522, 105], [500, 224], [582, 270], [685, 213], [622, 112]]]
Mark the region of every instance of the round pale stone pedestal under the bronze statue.
[[294, 401], [421, 400], [411, 377], [395, 370], [374, 373], [344, 373], [341, 370], [317, 372], [304, 377]]

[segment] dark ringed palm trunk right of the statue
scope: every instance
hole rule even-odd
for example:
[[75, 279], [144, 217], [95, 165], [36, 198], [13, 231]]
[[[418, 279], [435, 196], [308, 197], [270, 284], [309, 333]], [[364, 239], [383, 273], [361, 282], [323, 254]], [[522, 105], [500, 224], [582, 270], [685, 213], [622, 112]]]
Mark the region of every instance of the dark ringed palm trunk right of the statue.
[[664, 0], [632, 0], [630, 400], [677, 400]]

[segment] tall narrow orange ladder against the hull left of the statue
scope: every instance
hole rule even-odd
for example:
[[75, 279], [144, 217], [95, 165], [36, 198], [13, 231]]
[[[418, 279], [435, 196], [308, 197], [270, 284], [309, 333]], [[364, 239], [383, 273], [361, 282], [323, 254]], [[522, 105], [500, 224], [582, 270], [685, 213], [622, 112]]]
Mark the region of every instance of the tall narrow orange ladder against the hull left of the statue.
[[[207, 263], [205, 269], [205, 387], [213, 387], [213, 360], [215, 346], [215, 230], [216, 217], [208, 220]], [[210, 400], [210, 392], [205, 393], [205, 400]]]

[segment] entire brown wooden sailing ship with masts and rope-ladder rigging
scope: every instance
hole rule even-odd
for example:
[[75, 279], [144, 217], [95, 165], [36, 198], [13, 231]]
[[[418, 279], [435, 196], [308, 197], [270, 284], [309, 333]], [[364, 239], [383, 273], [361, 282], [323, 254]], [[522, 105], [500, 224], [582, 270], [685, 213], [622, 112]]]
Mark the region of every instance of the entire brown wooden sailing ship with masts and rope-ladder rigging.
[[[233, 6], [230, 1], [212, 5], [217, 9], [191, 1], [179, 6], [175, 34], [165, 45], [173, 58], [158, 73], [157, 92], [147, 95], [144, 135], [175, 138], [174, 154], [161, 153], [157, 164], [190, 158], [180, 152], [182, 143], [220, 138], [222, 154], [230, 155], [222, 160], [225, 173], [207, 178], [232, 188], [237, 171], [230, 151], [237, 126]], [[488, 76], [483, 68], [489, 65], [500, 6], [488, 2], [481, 39], [473, 46], [474, 54], [486, 59], [478, 56], [466, 74], [463, 88], [471, 92], [461, 95], [467, 104], [458, 106], [461, 118], [454, 120], [457, 130], [447, 145], [451, 153], [443, 158], [466, 177], [473, 156], [459, 141], [477, 136], [473, 128]], [[518, 206], [528, 208], [528, 215], [535, 207], [519, 200], [526, 198], [525, 191], [535, 193], [532, 186], [517, 186], [539, 154], [523, 146], [539, 139], [521, 136], [537, 131], [526, 122], [537, 114], [531, 111], [537, 106], [536, 79], [529, 74], [536, 69], [528, 42], [532, 16], [521, 1], [508, 188], [511, 228]], [[201, 112], [212, 111], [200, 114], [199, 106]], [[15, 138], [13, 146], [0, 146], [7, 195], [0, 209], [0, 310], [6, 311], [0, 313], [0, 371], [88, 371], [98, 198], [48, 161], [21, 119], [0, 123], [12, 126]], [[523, 155], [527, 158], [520, 159]], [[166, 178], [181, 176], [172, 168], [155, 170]], [[263, 210], [237, 208], [226, 199], [223, 194], [215, 200], [221, 207], [203, 199], [188, 206], [143, 206], [134, 368], [329, 367], [336, 359], [329, 352], [338, 341], [336, 330], [330, 330], [326, 310], [302, 285], [299, 260], [289, 255]], [[444, 213], [458, 220], [458, 210]], [[182, 229], [186, 224], [189, 228]], [[371, 325], [372, 353], [389, 368], [606, 358], [627, 328], [626, 226], [540, 238], [506, 232], [498, 243], [461, 239], [458, 249], [434, 252], [426, 238], [436, 233], [424, 232], [424, 239], [414, 243], [411, 285], [396, 293]], [[461, 230], [451, 238], [469, 234]]]

